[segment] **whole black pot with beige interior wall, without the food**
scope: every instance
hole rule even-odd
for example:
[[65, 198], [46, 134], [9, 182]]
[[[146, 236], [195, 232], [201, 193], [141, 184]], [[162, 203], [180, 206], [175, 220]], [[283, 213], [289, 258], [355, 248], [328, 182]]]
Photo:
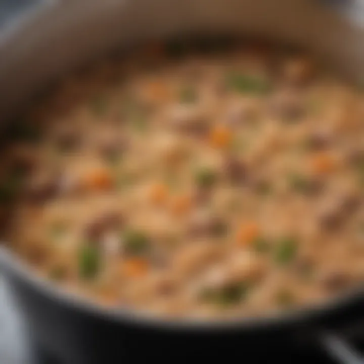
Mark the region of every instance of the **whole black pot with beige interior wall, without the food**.
[[[342, 75], [364, 81], [364, 29], [322, 2], [43, 0], [0, 33], [2, 125], [11, 122], [47, 85], [105, 54], [141, 40], [221, 33], [301, 45]], [[260, 352], [274, 352], [292, 343], [321, 345], [342, 362], [363, 362], [340, 338], [342, 332], [347, 334], [346, 324], [364, 316], [360, 290], [325, 305], [262, 319], [198, 323], [98, 307], [36, 277], [5, 247], [0, 250], [0, 267], [20, 303], [33, 342], [61, 363], [226, 353], [243, 353], [245, 359], [259, 361]]]

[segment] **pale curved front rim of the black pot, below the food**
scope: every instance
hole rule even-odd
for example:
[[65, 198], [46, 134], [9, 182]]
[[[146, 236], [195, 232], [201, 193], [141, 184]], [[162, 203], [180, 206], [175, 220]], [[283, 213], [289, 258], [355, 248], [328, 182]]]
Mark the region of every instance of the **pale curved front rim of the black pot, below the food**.
[[137, 326], [152, 326], [165, 330], [254, 330], [274, 328], [281, 325], [290, 325], [298, 322], [310, 322], [325, 315], [335, 314], [338, 310], [344, 309], [346, 305], [364, 299], [364, 285], [339, 295], [333, 299], [305, 305], [287, 311], [272, 311], [271, 314], [252, 317], [232, 317], [232, 319], [203, 319], [196, 317], [168, 317], [163, 315], [147, 314], [139, 310], [129, 308], [108, 308], [87, 299], [82, 295], [67, 292], [61, 287], [53, 284], [50, 280], [36, 275], [35, 272], [24, 264], [9, 248], [3, 243], [0, 244], [0, 269], [4, 269], [5, 276], [14, 277], [22, 281], [34, 293], [41, 294], [50, 300], [75, 309], [94, 317], [104, 318], [120, 324], [132, 324]]

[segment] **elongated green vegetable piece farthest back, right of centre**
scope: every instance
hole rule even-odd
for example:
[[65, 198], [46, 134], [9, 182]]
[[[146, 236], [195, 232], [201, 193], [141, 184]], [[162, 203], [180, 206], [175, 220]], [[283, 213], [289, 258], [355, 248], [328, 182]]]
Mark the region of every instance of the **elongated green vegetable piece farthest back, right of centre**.
[[259, 76], [231, 72], [226, 76], [226, 85], [241, 94], [264, 95], [269, 91], [269, 84]]

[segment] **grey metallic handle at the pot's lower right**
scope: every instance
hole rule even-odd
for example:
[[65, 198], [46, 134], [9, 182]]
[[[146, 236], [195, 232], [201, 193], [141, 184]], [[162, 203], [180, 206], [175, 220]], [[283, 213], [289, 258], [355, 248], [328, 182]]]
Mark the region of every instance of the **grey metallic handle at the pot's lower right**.
[[325, 351], [338, 364], [364, 363], [364, 356], [360, 355], [346, 340], [336, 333], [321, 333], [319, 339]]

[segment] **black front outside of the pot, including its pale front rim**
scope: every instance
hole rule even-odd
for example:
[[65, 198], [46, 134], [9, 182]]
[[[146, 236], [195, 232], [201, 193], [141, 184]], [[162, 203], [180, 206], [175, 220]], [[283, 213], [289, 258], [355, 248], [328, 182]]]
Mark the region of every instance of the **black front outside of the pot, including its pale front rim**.
[[[333, 332], [348, 336], [353, 323], [364, 323], [364, 295], [360, 292], [329, 305], [266, 319], [198, 323], [143, 317], [103, 309], [65, 294], [33, 277], [5, 250], [0, 262], [27, 320], [33, 344], [62, 364], [222, 356], [264, 362], [277, 354], [281, 362], [303, 362], [299, 360], [307, 350], [311, 360], [321, 348], [331, 351]], [[364, 326], [359, 329], [364, 330]], [[345, 344], [341, 341], [340, 345]], [[335, 347], [332, 354], [336, 355]], [[354, 363], [349, 360], [354, 354], [347, 355], [340, 356], [341, 360]]]

